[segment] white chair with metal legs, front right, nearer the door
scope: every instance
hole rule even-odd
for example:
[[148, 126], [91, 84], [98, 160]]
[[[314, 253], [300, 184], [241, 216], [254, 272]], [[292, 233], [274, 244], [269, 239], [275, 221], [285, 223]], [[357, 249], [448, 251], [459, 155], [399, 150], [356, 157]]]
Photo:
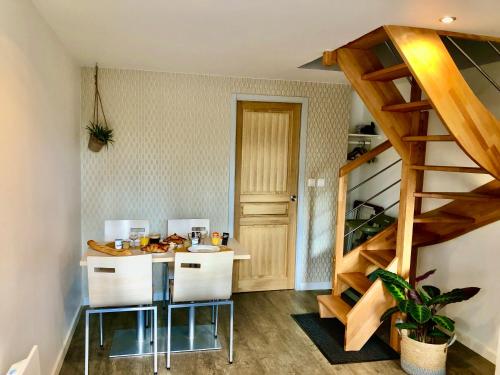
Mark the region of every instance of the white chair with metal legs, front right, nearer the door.
[[[217, 253], [176, 253], [171, 303], [167, 318], [167, 369], [170, 369], [172, 310], [189, 308], [189, 339], [194, 340], [194, 308], [229, 305], [229, 363], [233, 363], [234, 306], [231, 298], [233, 251]], [[217, 321], [214, 326], [217, 337]]]

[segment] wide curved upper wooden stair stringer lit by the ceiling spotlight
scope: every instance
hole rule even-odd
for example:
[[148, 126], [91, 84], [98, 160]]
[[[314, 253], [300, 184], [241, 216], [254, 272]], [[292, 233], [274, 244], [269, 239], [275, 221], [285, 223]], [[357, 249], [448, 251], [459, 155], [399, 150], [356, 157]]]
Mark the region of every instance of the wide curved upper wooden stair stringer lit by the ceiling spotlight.
[[500, 121], [471, 90], [438, 32], [394, 25], [384, 29], [457, 144], [500, 179]]

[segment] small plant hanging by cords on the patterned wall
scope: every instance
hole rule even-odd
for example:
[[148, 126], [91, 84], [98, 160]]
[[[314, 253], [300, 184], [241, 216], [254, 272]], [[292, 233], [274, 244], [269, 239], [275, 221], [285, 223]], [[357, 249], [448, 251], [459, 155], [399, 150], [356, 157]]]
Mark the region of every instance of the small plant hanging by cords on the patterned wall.
[[[99, 93], [99, 67], [95, 66], [94, 74], [94, 113], [90, 124], [87, 126], [87, 131], [89, 132], [89, 150], [93, 152], [99, 152], [106, 146], [108, 148], [109, 144], [114, 142], [113, 139], [113, 129], [110, 129], [108, 122], [106, 120], [106, 115], [104, 114], [104, 108], [102, 106], [101, 94]], [[99, 107], [102, 113], [103, 122], [99, 120]]]

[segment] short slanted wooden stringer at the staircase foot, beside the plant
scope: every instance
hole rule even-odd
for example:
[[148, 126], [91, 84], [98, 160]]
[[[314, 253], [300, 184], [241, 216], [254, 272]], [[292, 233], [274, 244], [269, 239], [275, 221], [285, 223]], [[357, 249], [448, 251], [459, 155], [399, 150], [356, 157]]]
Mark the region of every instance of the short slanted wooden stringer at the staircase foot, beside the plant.
[[[397, 258], [386, 268], [397, 271]], [[360, 350], [380, 326], [380, 317], [391, 306], [394, 299], [381, 280], [376, 280], [347, 314], [344, 349]]]

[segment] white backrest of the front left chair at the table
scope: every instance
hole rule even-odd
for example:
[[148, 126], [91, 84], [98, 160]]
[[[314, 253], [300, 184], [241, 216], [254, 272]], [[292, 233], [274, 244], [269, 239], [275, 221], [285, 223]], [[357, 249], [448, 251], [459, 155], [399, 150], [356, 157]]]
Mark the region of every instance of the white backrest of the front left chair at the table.
[[87, 257], [89, 305], [115, 307], [151, 304], [152, 260], [151, 254]]

